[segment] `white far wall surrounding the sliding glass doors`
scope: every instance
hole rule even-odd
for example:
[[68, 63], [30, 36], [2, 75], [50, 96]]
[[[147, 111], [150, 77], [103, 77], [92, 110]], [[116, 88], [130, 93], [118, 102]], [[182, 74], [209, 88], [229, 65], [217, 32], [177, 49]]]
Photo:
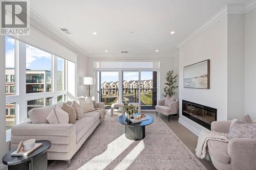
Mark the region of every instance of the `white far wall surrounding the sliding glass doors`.
[[[178, 57], [178, 56], [176, 56]], [[93, 63], [95, 60], [127, 60], [127, 58], [123, 57], [108, 57], [108, 58], [102, 58], [102, 57], [93, 57], [88, 58], [88, 76], [94, 76], [94, 66]], [[168, 70], [174, 70], [174, 72], [177, 72], [175, 70], [175, 62], [177, 62], [177, 58], [175, 60], [175, 57], [133, 57], [132, 60], [159, 60], [160, 61], [160, 87], [158, 89], [160, 90], [160, 98], [164, 98], [162, 94], [164, 94], [163, 88], [165, 83], [165, 76]], [[177, 67], [176, 67], [177, 69]], [[177, 80], [178, 81], [178, 80]], [[94, 91], [94, 88], [92, 88], [92, 91]]]

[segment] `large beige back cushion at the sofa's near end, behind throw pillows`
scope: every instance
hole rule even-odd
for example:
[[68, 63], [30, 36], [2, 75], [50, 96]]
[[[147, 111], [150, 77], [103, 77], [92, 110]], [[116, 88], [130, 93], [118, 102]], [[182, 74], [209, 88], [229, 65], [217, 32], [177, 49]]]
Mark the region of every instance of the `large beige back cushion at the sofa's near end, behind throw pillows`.
[[[62, 107], [63, 103], [55, 104]], [[34, 108], [28, 112], [29, 118], [33, 124], [48, 124], [46, 117], [51, 113], [55, 105]]]

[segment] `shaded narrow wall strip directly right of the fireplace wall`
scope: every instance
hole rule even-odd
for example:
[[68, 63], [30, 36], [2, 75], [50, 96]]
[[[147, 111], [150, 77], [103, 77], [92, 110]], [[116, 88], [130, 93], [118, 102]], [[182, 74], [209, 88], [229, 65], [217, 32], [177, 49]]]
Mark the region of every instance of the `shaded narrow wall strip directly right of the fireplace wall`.
[[228, 14], [227, 22], [227, 119], [231, 120], [244, 115], [244, 14]]

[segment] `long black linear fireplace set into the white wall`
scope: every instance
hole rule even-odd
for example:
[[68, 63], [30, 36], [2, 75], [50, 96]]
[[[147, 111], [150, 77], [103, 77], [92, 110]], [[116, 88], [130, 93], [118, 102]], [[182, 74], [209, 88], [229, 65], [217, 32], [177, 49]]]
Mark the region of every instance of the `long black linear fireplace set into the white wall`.
[[182, 100], [182, 115], [210, 130], [211, 122], [217, 120], [217, 109]]

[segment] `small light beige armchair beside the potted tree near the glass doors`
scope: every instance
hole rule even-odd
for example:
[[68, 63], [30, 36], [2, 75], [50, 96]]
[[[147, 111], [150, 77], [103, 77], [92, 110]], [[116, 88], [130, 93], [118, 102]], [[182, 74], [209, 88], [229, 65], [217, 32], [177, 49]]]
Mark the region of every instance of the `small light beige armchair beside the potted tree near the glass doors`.
[[161, 99], [157, 102], [156, 112], [168, 116], [168, 122], [170, 122], [170, 115], [177, 114], [179, 116], [179, 100], [175, 99], [175, 102], [170, 103], [169, 106], [164, 106], [164, 101], [165, 99]]

